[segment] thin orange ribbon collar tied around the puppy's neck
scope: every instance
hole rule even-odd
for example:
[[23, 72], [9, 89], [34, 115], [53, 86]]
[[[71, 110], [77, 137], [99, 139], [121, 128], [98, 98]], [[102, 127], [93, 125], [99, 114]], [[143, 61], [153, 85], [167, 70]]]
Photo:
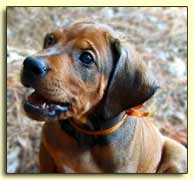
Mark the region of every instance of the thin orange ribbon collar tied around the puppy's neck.
[[149, 112], [136, 111], [137, 109], [140, 109], [142, 106], [143, 105], [140, 104], [138, 106], [135, 106], [135, 107], [132, 107], [132, 108], [128, 109], [117, 124], [115, 124], [111, 128], [107, 128], [107, 129], [104, 129], [104, 130], [97, 130], [97, 131], [95, 131], [95, 130], [94, 131], [93, 130], [86, 130], [86, 129], [80, 128], [73, 121], [70, 121], [70, 123], [77, 131], [79, 131], [83, 134], [94, 135], [94, 136], [96, 136], [96, 135], [106, 135], [106, 134], [110, 134], [110, 133], [116, 131], [125, 122], [125, 120], [127, 119], [128, 116], [137, 116], [137, 117], [148, 116]]

